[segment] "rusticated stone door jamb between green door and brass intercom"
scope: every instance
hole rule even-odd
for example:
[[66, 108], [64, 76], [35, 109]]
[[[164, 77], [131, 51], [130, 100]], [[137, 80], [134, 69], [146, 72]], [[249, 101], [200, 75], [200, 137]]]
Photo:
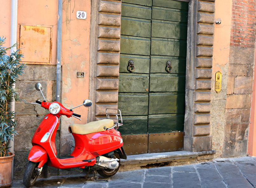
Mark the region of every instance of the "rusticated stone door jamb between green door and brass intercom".
[[184, 150], [211, 150], [211, 72], [215, 0], [190, 1]]

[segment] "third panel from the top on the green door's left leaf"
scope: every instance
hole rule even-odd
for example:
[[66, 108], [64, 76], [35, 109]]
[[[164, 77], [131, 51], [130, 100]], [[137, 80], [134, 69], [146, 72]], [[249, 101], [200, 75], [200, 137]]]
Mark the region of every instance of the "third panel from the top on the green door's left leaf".
[[121, 17], [121, 35], [151, 37], [151, 20]]

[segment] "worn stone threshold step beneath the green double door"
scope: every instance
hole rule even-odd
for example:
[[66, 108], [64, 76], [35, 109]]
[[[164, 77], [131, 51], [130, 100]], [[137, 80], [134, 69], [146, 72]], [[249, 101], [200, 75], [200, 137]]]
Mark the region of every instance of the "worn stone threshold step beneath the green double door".
[[[177, 152], [160, 152], [160, 153], [145, 153], [138, 155], [128, 155], [127, 159], [121, 159], [122, 165], [135, 165], [145, 163], [163, 163], [171, 162], [177, 159], [193, 159], [202, 155], [214, 155], [215, 150], [203, 152], [177, 151]], [[212, 158], [213, 159], [213, 156]]]

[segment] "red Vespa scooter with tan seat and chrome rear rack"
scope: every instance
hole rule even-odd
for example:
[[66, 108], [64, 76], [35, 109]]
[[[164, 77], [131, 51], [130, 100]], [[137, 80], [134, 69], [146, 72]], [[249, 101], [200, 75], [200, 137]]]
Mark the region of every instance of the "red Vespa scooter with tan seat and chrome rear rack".
[[[38, 82], [35, 87], [41, 92], [44, 101], [37, 100], [36, 103], [31, 104], [40, 105], [48, 109], [50, 113], [45, 115], [32, 138], [33, 147], [28, 156], [29, 163], [24, 173], [24, 185], [26, 187], [34, 185], [45, 165], [59, 169], [80, 168], [86, 169], [87, 172], [93, 170], [94, 181], [97, 180], [96, 171], [103, 177], [113, 176], [120, 167], [120, 159], [126, 159], [121, 134], [116, 130], [122, 125], [121, 111], [108, 108], [106, 109], [107, 119], [85, 125], [70, 125], [68, 130], [75, 140], [74, 150], [70, 156], [58, 158], [55, 135], [59, 126], [59, 117], [66, 115], [68, 118], [72, 116], [80, 120], [81, 115], [73, 113], [72, 109], [76, 107], [67, 109], [59, 102], [46, 102], [41, 91], [42, 85]], [[90, 107], [92, 101], [84, 100], [82, 105]], [[109, 113], [113, 110], [119, 113]], [[115, 118], [112, 118], [113, 116]]]

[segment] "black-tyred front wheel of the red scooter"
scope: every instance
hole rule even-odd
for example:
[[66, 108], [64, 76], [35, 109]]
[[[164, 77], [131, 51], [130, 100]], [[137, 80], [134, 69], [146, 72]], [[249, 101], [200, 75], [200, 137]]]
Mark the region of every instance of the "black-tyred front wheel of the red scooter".
[[38, 166], [38, 163], [34, 163], [32, 161], [28, 162], [28, 165], [23, 177], [23, 184], [26, 187], [32, 187], [35, 184], [38, 178], [38, 174], [36, 173], [37, 166]]

